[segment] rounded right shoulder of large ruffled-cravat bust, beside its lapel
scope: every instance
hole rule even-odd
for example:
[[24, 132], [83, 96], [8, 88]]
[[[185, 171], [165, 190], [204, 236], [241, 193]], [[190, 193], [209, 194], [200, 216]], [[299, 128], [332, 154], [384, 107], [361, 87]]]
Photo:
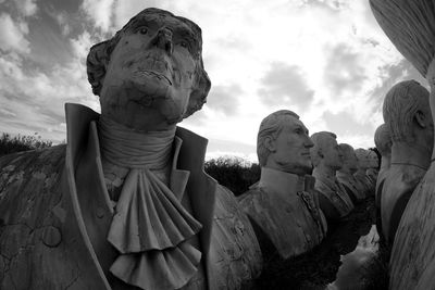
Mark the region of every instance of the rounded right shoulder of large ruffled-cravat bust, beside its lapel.
[[247, 287], [260, 275], [262, 255], [253, 228], [234, 193], [217, 185], [211, 264], [219, 289]]

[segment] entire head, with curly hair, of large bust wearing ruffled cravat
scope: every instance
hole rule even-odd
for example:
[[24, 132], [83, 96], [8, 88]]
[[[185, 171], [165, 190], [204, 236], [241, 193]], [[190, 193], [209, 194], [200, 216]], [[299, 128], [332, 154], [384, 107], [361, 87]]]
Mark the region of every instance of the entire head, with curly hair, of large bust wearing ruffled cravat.
[[211, 86], [201, 51], [194, 22], [154, 8], [141, 11], [88, 54], [88, 80], [101, 114], [149, 130], [200, 110]]

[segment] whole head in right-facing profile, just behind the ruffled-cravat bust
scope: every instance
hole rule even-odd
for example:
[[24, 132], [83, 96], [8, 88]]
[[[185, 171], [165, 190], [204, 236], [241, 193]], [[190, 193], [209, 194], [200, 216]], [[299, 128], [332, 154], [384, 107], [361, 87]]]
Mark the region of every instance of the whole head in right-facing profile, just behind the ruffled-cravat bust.
[[296, 113], [281, 110], [261, 122], [257, 154], [262, 167], [304, 175], [312, 168], [311, 147], [308, 129]]

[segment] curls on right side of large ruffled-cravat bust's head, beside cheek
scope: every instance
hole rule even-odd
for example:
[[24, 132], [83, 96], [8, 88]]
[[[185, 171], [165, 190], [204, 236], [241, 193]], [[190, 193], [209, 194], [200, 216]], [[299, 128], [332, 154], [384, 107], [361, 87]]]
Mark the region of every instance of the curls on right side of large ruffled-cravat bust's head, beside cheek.
[[197, 86], [194, 87], [194, 90], [190, 92], [189, 103], [187, 105], [186, 113], [183, 117], [188, 117], [194, 114], [196, 111], [201, 110], [202, 105], [207, 102], [207, 96], [209, 94], [211, 81], [206, 71], [201, 68], [199, 71], [199, 76], [197, 80]]

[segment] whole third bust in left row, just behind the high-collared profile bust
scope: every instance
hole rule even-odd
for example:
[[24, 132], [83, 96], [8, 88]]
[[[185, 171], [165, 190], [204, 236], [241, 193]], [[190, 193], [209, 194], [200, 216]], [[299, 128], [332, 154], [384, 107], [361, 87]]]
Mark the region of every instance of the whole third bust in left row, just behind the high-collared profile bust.
[[337, 136], [328, 131], [311, 136], [314, 147], [311, 148], [311, 160], [314, 165], [315, 189], [321, 192], [320, 205], [328, 219], [338, 219], [353, 210], [353, 203], [335, 174], [343, 166], [341, 151]]

